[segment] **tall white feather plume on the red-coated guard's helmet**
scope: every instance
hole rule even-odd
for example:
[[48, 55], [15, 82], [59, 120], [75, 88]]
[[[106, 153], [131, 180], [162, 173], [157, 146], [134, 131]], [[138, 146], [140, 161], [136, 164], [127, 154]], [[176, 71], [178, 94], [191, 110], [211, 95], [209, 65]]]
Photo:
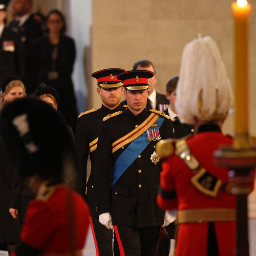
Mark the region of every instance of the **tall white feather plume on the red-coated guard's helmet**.
[[175, 108], [182, 123], [219, 120], [233, 105], [233, 93], [219, 49], [211, 37], [185, 45]]

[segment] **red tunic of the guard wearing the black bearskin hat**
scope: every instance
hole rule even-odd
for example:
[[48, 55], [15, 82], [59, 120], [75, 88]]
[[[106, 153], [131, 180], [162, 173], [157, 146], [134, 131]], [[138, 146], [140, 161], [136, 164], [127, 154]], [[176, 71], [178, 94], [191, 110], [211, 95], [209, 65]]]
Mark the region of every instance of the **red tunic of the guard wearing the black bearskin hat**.
[[88, 226], [89, 209], [82, 196], [67, 185], [51, 186], [43, 197], [30, 202], [21, 233], [22, 245], [12, 256], [66, 256], [70, 250], [80, 256]]

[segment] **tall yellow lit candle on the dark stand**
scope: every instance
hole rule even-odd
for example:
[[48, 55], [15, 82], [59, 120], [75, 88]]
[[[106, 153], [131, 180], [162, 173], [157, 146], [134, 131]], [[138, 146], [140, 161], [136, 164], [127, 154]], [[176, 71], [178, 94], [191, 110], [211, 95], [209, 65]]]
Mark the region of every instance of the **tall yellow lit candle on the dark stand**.
[[251, 6], [246, 0], [232, 4], [234, 16], [234, 83], [236, 148], [249, 147], [248, 142], [248, 16]]

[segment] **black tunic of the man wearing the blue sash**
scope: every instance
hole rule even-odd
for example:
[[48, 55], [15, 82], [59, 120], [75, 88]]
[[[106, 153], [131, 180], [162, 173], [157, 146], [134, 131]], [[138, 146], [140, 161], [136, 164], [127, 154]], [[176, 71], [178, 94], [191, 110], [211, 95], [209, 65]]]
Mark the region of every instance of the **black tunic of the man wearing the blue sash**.
[[[150, 111], [144, 109], [135, 116], [127, 109], [102, 122], [95, 158], [98, 210], [100, 214], [110, 212], [113, 225], [143, 228], [163, 224], [164, 211], [156, 203], [161, 161], [154, 165], [150, 159], [157, 141], [151, 141], [109, 189], [114, 163], [129, 146], [112, 154], [112, 143], [134, 130], [150, 114]], [[159, 128], [161, 138], [173, 137], [172, 131], [171, 121], [165, 118]], [[146, 133], [143, 136], [147, 140]]]

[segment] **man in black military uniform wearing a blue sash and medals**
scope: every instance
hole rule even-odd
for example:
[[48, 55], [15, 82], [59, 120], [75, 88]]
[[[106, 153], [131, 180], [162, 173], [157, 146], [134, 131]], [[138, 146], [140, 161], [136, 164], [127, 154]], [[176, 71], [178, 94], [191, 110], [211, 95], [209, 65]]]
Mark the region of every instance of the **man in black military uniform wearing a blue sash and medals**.
[[[165, 212], [156, 204], [161, 161], [156, 142], [173, 136], [169, 116], [147, 111], [154, 73], [121, 73], [128, 108], [103, 119], [95, 158], [99, 221], [114, 228], [125, 256], [155, 255]], [[168, 224], [168, 221], [165, 222]]]

